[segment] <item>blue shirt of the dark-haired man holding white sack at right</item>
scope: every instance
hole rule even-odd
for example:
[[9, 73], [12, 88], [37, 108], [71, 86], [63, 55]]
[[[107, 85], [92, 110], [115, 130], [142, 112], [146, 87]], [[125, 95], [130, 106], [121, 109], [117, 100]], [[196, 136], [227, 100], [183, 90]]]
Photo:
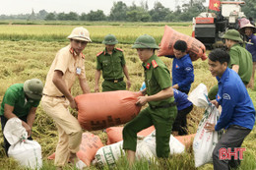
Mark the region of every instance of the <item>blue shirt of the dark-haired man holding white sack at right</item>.
[[255, 123], [255, 109], [245, 85], [240, 77], [227, 68], [220, 79], [217, 77], [219, 90], [217, 101], [223, 111], [215, 126], [216, 131], [238, 125], [252, 130]]

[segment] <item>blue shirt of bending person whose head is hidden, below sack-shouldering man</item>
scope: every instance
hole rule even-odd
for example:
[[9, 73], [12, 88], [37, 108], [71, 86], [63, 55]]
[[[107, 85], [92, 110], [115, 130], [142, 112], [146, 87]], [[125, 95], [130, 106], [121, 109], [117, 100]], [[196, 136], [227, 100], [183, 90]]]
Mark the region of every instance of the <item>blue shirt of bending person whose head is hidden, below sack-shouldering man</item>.
[[185, 92], [181, 92], [173, 88], [173, 93], [174, 93], [174, 99], [177, 104], [178, 111], [183, 110], [193, 104], [191, 101], [187, 99], [188, 96]]

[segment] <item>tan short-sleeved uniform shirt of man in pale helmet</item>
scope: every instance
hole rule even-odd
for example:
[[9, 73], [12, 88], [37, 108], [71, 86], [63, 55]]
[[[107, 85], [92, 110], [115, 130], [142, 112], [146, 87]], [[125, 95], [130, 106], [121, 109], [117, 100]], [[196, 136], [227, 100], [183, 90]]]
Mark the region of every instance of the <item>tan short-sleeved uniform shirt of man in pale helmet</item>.
[[49, 96], [63, 96], [59, 89], [52, 83], [54, 71], [63, 73], [63, 80], [70, 90], [76, 77], [85, 78], [85, 56], [76, 54], [71, 45], [58, 51], [47, 74], [43, 93]]

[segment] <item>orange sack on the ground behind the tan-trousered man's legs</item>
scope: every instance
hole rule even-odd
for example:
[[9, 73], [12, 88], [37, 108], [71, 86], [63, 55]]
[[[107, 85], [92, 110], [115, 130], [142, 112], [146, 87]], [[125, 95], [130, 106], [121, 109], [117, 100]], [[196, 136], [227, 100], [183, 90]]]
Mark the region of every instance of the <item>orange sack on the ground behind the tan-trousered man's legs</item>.
[[[80, 160], [87, 164], [87, 166], [90, 166], [91, 162], [96, 156], [96, 151], [102, 146], [104, 145], [97, 136], [91, 133], [84, 133], [77, 156]], [[55, 152], [49, 155], [47, 159], [55, 159]]]

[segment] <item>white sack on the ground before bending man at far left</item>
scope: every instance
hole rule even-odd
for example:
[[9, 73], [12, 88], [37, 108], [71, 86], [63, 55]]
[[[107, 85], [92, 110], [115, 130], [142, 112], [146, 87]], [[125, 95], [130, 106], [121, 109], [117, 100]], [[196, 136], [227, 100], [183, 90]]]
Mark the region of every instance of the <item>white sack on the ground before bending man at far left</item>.
[[41, 168], [41, 146], [38, 142], [27, 140], [28, 133], [19, 118], [14, 117], [7, 121], [4, 128], [4, 136], [11, 144], [8, 149], [9, 157], [13, 157], [20, 165], [26, 168]]

